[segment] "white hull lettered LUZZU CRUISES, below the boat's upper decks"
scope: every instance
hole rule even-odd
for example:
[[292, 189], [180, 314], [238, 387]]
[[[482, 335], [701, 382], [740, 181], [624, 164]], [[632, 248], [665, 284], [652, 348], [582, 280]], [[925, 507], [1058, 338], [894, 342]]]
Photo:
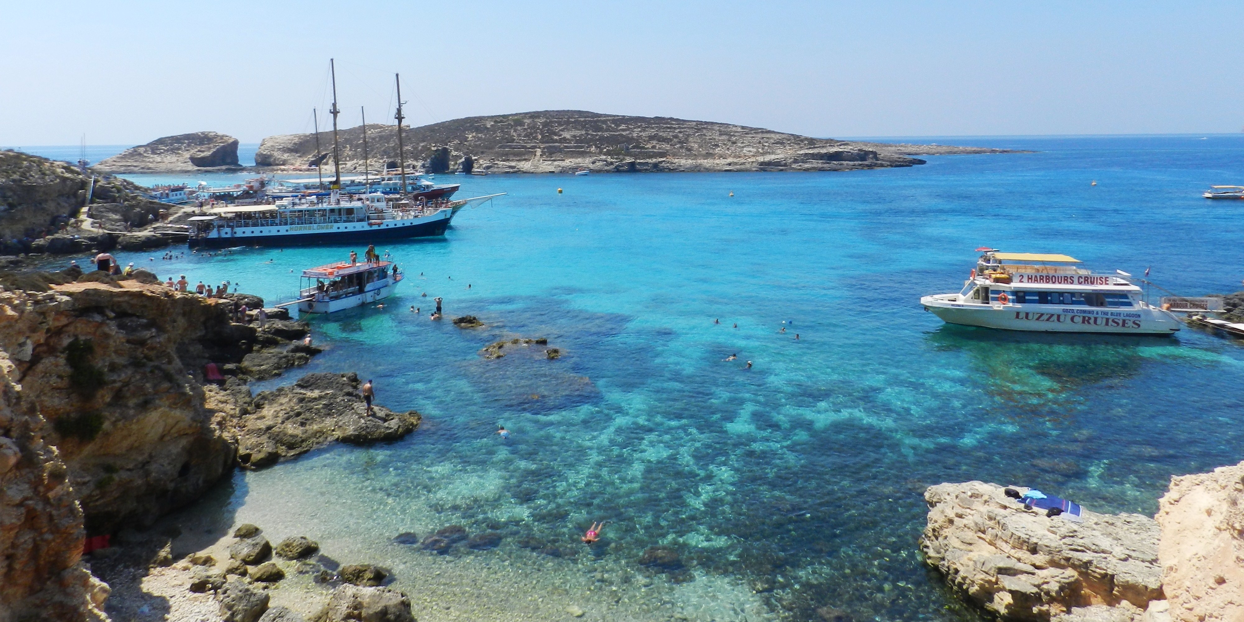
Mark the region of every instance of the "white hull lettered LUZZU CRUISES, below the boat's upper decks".
[[1059, 305], [979, 305], [954, 302], [954, 294], [924, 296], [926, 311], [947, 323], [1028, 332], [1100, 332], [1174, 335], [1181, 323], [1169, 311], [1138, 309], [1069, 309]]

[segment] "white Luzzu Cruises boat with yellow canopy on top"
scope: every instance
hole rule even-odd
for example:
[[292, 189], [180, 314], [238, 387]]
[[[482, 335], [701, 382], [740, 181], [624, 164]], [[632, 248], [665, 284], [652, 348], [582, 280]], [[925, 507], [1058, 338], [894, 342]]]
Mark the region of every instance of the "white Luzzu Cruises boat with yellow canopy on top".
[[963, 289], [921, 299], [949, 323], [1011, 331], [1173, 335], [1179, 320], [1143, 300], [1121, 270], [1080, 267], [1067, 255], [984, 251]]

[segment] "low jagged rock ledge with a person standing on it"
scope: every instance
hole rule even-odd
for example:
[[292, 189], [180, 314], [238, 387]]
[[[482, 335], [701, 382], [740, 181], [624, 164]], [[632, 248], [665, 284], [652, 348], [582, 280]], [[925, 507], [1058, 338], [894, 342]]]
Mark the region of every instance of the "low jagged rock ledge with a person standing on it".
[[[229, 389], [230, 387], [225, 387]], [[397, 440], [419, 427], [414, 411], [396, 413], [373, 406], [367, 413], [356, 373], [309, 373], [292, 386], [248, 399], [235, 391], [238, 414], [229, 420], [238, 462], [262, 468], [302, 455], [333, 440], [367, 444]]]

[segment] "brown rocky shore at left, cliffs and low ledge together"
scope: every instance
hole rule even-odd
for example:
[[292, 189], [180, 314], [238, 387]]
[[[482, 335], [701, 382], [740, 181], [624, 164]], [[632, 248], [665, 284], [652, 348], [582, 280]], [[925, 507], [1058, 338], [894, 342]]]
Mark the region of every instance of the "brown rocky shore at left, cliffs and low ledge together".
[[[300, 341], [307, 325], [243, 317], [241, 305], [262, 305], [254, 296], [205, 299], [154, 281], [143, 270], [0, 274], [0, 498], [26, 509], [0, 514], [0, 550], [11, 551], [0, 611], [15, 620], [107, 620], [109, 587], [85, 551], [112, 560], [103, 576], [141, 582], [170, 560], [153, 531], [159, 518], [235, 465], [261, 466], [254, 448], [291, 458], [337, 439], [392, 440], [419, 423], [413, 411], [362, 413], [355, 374], [307, 374], [251, 397], [248, 381], [318, 352]], [[374, 600], [351, 595], [342, 598]]]

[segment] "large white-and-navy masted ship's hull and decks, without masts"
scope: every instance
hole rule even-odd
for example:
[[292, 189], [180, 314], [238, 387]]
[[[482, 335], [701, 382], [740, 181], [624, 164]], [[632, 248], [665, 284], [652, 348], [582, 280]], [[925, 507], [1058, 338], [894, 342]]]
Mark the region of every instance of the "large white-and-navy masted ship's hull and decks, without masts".
[[362, 198], [333, 190], [327, 198], [280, 199], [262, 205], [226, 205], [190, 216], [190, 248], [296, 245], [444, 235], [454, 214], [500, 194], [471, 199], [404, 199], [372, 193]]

